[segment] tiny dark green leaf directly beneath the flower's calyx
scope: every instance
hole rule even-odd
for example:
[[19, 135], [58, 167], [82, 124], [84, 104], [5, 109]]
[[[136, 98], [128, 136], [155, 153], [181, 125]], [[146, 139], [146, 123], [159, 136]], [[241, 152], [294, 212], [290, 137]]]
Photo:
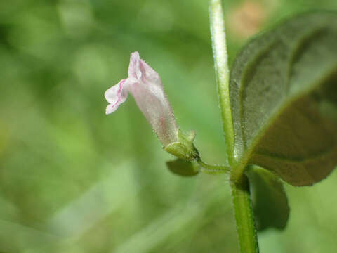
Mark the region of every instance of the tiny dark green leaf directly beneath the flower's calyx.
[[166, 162], [167, 167], [174, 174], [179, 176], [194, 176], [199, 173], [199, 165], [197, 162], [189, 162], [183, 159], [176, 159]]

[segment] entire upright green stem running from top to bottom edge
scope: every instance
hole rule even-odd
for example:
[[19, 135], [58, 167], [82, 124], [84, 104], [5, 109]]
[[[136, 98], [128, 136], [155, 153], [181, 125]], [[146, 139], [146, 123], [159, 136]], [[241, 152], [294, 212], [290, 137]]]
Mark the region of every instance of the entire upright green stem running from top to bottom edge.
[[[234, 128], [230, 107], [230, 71], [228, 67], [225, 22], [221, 0], [211, 0], [209, 7], [216, 82], [223, 119], [223, 132], [227, 144], [227, 157], [231, 171], [230, 186], [234, 205], [239, 248], [242, 253], [258, 253], [258, 240], [254, 226], [249, 181], [243, 174], [245, 164], [237, 164], [234, 156]], [[239, 165], [239, 166], [238, 166]], [[237, 171], [235, 168], [239, 168]], [[234, 180], [233, 180], [234, 179]]]

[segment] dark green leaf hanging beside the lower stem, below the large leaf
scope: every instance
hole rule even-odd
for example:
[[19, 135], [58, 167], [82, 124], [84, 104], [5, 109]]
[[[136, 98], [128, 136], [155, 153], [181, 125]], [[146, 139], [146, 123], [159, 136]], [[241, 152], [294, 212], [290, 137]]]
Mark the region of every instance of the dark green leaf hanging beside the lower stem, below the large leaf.
[[289, 205], [283, 183], [271, 172], [258, 166], [247, 171], [253, 212], [258, 231], [284, 229], [289, 219]]

